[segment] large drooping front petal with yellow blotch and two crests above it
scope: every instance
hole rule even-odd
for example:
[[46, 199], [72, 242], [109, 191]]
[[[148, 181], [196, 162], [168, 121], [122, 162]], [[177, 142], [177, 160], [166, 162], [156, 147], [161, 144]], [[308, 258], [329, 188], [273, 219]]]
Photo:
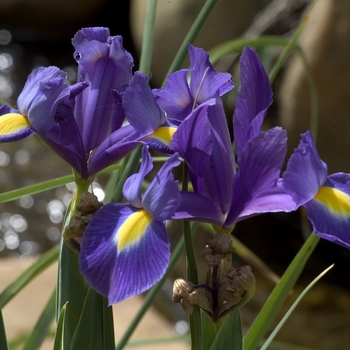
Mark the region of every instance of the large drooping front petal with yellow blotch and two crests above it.
[[106, 204], [84, 231], [80, 271], [92, 288], [108, 297], [109, 304], [142, 293], [163, 276], [170, 256], [165, 220], [180, 200], [171, 171], [179, 164], [177, 154], [172, 155], [142, 196], [142, 182], [152, 170], [144, 145], [140, 171], [124, 184], [129, 203]]

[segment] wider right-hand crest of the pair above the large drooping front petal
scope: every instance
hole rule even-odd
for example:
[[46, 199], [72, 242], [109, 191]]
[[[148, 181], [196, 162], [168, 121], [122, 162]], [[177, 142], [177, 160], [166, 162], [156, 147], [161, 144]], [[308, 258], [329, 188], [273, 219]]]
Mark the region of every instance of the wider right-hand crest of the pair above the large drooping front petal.
[[160, 222], [169, 219], [180, 203], [178, 183], [172, 174], [178, 165], [180, 161], [175, 153], [157, 172], [142, 199], [145, 210]]

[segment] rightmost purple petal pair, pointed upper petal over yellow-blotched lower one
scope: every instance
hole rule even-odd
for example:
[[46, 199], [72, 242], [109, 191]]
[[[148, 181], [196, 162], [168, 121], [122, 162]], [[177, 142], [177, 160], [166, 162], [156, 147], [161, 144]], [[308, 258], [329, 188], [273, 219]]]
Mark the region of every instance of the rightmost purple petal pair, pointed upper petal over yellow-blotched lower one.
[[328, 176], [310, 132], [301, 136], [283, 174], [283, 186], [298, 206], [305, 206], [318, 236], [350, 248], [350, 174]]

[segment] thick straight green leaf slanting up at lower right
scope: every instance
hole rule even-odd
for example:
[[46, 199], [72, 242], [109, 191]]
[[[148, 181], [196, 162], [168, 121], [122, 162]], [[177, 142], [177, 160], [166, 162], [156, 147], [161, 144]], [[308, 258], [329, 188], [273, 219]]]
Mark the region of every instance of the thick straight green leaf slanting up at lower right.
[[311, 233], [297, 255], [294, 257], [293, 261], [281, 277], [279, 283], [272, 291], [270, 297], [267, 299], [266, 303], [248, 330], [244, 339], [244, 348], [246, 350], [255, 350], [259, 346], [260, 341], [263, 339], [271, 324], [274, 322], [278, 311], [282, 307], [290, 290], [293, 288], [295, 282], [299, 278], [306, 262], [316, 248], [319, 240], [320, 238], [318, 236]]

